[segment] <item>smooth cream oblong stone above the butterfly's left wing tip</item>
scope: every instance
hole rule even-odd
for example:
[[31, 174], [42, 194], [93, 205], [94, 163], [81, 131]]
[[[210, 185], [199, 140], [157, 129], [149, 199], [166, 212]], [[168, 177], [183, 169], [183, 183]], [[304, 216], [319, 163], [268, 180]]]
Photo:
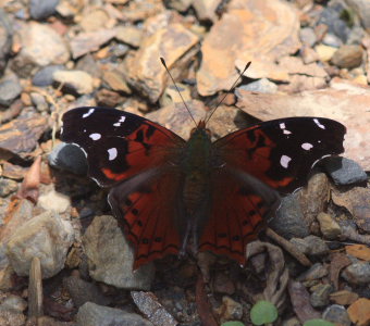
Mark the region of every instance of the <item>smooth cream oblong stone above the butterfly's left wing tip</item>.
[[83, 71], [57, 71], [53, 80], [62, 84], [63, 88], [78, 95], [90, 93], [94, 90], [92, 77]]

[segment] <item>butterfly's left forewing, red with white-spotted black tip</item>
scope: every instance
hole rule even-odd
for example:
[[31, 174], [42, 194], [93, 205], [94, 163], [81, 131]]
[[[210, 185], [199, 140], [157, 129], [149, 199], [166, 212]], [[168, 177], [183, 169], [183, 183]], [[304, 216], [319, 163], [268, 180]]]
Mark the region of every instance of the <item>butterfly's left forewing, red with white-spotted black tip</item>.
[[175, 158], [185, 141], [136, 114], [106, 108], [77, 108], [63, 115], [63, 141], [82, 148], [89, 176], [111, 187]]

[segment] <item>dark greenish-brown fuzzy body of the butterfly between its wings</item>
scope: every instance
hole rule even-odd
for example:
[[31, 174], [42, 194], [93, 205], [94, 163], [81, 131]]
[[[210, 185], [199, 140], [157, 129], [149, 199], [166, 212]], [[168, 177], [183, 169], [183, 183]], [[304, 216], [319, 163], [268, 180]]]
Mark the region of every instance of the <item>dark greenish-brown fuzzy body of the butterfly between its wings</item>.
[[186, 143], [182, 170], [184, 172], [183, 200], [193, 215], [207, 196], [211, 173], [212, 142], [209, 130], [200, 125], [192, 131]]

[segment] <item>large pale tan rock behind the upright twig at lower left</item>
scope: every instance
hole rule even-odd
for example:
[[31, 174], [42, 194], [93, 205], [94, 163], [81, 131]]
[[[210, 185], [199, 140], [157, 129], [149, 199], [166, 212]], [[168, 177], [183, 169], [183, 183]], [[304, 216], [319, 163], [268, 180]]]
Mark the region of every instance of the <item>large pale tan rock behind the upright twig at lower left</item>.
[[70, 222], [54, 212], [45, 212], [24, 223], [10, 236], [7, 254], [20, 276], [28, 275], [30, 261], [38, 256], [42, 277], [49, 278], [63, 268], [73, 238]]

